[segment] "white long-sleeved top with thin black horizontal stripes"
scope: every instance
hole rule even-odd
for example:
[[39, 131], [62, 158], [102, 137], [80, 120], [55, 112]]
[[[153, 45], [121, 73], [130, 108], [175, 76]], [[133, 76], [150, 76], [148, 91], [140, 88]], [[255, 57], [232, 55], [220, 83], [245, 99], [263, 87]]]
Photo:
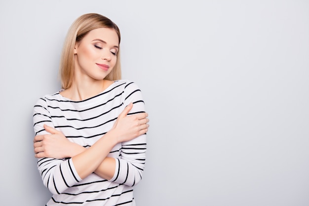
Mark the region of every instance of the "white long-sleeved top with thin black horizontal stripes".
[[[131, 102], [129, 114], [145, 112], [140, 89], [128, 80], [117, 80], [99, 95], [78, 102], [59, 92], [46, 95], [34, 106], [35, 134], [46, 134], [46, 124], [70, 141], [89, 147], [111, 130], [117, 116]], [[110, 180], [95, 173], [81, 179], [71, 158], [38, 159], [43, 183], [53, 194], [46, 206], [134, 206], [133, 186], [142, 179], [146, 134], [117, 144], [108, 156], [116, 158], [115, 174]]]

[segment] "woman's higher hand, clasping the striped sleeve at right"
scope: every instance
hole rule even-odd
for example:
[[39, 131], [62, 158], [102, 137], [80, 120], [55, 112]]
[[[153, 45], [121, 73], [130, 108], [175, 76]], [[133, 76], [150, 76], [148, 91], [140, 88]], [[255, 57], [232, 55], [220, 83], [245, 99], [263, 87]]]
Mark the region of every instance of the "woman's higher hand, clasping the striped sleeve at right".
[[118, 143], [132, 140], [148, 131], [148, 113], [144, 112], [127, 116], [132, 107], [133, 103], [130, 103], [123, 109], [111, 130], [115, 134]]

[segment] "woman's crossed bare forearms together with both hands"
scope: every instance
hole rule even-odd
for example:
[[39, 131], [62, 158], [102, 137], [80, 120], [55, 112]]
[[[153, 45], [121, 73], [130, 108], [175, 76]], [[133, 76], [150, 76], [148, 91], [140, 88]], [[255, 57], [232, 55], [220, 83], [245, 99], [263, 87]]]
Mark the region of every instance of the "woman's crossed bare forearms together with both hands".
[[148, 114], [127, 116], [132, 107], [132, 103], [126, 106], [119, 114], [113, 128], [89, 148], [69, 141], [61, 132], [44, 125], [45, 131], [50, 134], [34, 137], [35, 156], [37, 158], [71, 157], [81, 179], [92, 172], [104, 179], [111, 179], [116, 168], [115, 158], [107, 157], [111, 149], [119, 142], [132, 140], [148, 131]]

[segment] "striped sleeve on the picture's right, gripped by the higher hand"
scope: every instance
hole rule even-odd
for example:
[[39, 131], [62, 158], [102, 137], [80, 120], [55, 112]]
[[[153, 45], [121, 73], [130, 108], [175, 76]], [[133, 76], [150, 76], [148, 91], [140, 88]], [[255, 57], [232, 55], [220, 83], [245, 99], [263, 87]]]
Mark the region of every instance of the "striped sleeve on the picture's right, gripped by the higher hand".
[[[133, 108], [128, 115], [145, 112], [145, 103], [141, 90], [133, 82], [125, 86], [123, 108], [129, 103], [133, 103]], [[136, 185], [142, 179], [145, 161], [146, 134], [136, 137], [133, 140], [122, 142], [120, 158], [116, 159], [115, 174], [110, 181], [128, 186]]]

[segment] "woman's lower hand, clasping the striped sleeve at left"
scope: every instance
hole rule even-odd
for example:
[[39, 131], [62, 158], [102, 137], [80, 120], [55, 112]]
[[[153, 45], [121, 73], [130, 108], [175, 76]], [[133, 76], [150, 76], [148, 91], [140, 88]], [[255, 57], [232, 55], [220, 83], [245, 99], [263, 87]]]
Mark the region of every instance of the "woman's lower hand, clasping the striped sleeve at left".
[[44, 125], [46, 135], [37, 135], [34, 142], [34, 152], [36, 158], [49, 157], [49, 158], [66, 158], [72, 157], [72, 149], [74, 143], [69, 141], [62, 132]]

